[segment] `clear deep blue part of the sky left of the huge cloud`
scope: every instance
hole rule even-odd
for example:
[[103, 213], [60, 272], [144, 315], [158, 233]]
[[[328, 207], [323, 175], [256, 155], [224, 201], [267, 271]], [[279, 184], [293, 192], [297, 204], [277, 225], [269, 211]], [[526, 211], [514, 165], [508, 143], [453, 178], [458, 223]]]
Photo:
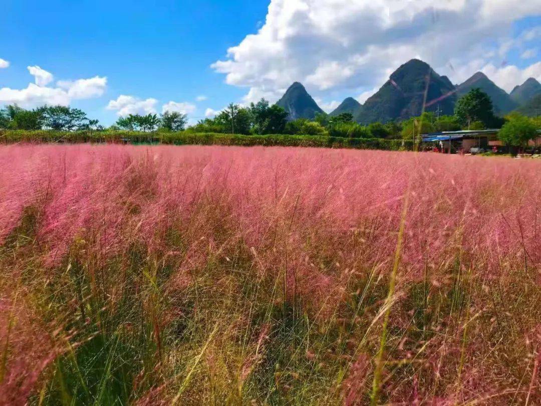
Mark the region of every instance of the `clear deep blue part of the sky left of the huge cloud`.
[[[104, 108], [120, 94], [192, 102], [192, 117], [241, 99], [210, 65], [258, 29], [268, 3], [261, 0], [161, 1], [2, 0], [0, 87], [23, 88], [37, 65], [55, 79], [107, 77], [102, 97], [71, 104], [110, 123]], [[208, 100], [197, 102], [197, 96]]]

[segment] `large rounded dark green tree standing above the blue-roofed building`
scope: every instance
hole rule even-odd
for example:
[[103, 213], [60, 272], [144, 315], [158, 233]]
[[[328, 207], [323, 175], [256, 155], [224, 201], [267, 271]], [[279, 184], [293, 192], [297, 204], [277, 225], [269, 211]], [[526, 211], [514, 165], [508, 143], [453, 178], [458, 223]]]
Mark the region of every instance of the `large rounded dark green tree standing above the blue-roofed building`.
[[472, 122], [481, 121], [486, 127], [494, 123], [494, 112], [489, 95], [479, 88], [470, 90], [454, 107], [460, 125], [470, 129]]

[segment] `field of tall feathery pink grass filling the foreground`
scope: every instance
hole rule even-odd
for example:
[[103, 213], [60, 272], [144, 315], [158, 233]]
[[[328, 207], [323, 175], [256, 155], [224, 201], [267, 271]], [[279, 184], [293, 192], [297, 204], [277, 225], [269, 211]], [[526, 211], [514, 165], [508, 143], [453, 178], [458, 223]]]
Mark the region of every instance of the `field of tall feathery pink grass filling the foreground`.
[[0, 146], [0, 404], [540, 404], [541, 162]]

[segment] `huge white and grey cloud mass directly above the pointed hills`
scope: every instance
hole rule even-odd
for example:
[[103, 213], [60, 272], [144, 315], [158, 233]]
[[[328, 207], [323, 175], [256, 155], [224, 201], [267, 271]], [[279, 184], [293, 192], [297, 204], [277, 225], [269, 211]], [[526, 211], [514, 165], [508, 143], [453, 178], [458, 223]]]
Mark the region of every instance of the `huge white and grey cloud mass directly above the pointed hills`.
[[[477, 57], [479, 68], [497, 66], [518, 46], [509, 41], [513, 22], [539, 13], [540, 2], [514, 0], [271, 0], [265, 24], [212, 68], [226, 83], [248, 88], [245, 101], [275, 101], [294, 81], [316, 96], [364, 99], [414, 57], [453, 82], [459, 78], [451, 66]], [[537, 35], [533, 29], [521, 40]]]

